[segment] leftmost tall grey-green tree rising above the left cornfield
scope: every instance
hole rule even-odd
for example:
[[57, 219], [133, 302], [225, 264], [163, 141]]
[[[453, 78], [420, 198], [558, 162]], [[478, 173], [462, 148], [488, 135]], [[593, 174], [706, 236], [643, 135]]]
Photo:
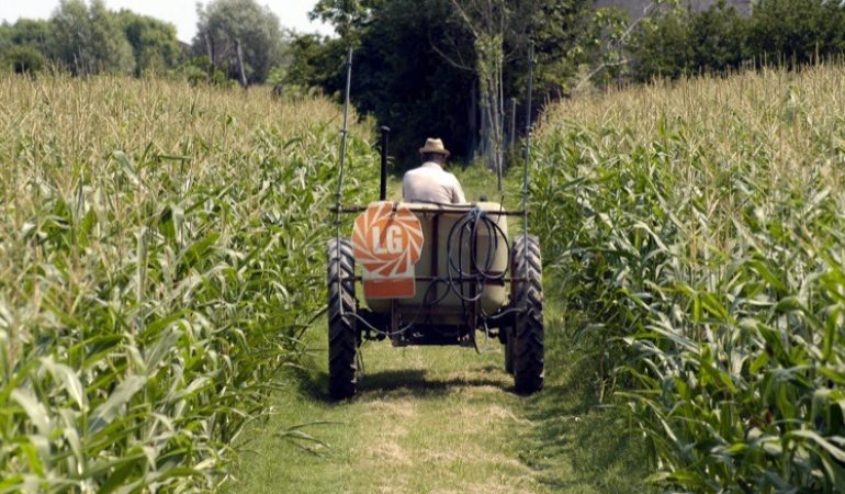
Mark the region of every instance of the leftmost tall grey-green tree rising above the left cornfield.
[[102, 0], [61, 0], [53, 14], [57, 57], [75, 75], [132, 74], [135, 59], [116, 18]]

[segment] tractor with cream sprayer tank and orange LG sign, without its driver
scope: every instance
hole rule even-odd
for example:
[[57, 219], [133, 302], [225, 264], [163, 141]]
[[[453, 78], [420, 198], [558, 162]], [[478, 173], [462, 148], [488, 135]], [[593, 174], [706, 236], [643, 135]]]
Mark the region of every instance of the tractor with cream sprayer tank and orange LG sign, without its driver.
[[[351, 55], [350, 50], [345, 109]], [[528, 111], [530, 115], [530, 82]], [[379, 201], [342, 206], [346, 130], [345, 110], [338, 202], [334, 209], [338, 227], [327, 245], [330, 396], [342, 400], [356, 394], [360, 378], [358, 352], [364, 340], [390, 339], [395, 347], [474, 347], [477, 334], [505, 346], [504, 366], [512, 374], [518, 393], [541, 390], [542, 262], [537, 237], [527, 233], [528, 165], [521, 211], [508, 211], [488, 201], [387, 201], [388, 128], [382, 127]], [[529, 138], [526, 161], [528, 145]], [[341, 233], [341, 214], [358, 214], [350, 236]], [[526, 233], [511, 236], [509, 217], [521, 218]], [[363, 288], [360, 299], [359, 287]]]

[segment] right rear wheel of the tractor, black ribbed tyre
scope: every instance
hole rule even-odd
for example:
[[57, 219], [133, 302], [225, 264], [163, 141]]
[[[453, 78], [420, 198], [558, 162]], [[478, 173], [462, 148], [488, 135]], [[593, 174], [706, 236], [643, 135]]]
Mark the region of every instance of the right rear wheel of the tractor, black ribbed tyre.
[[[511, 307], [518, 308], [508, 335], [510, 366], [518, 393], [533, 393], [543, 388], [543, 265], [540, 242], [521, 235], [514, 242], [510, 274], [522, 279], [511, 285]], [[506, 347], [505, 351], [508, 351]], [[507, 358], [507, 357], [506, 357]], [[506, 360], [506, 366], [507, 366]]]

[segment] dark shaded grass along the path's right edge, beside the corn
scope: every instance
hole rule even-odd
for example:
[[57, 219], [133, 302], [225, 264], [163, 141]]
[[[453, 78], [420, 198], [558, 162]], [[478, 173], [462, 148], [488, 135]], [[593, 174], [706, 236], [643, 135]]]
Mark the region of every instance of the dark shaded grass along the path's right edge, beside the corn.
[[547, 385], [528, 398], [523, 416], [533, 427], [522, 437], [521, 460], [554, 492], [652, 492], [643, 440], [621, 409], [598, 401], [592, 360], [570, 348], [562, 330], [547, 333]]

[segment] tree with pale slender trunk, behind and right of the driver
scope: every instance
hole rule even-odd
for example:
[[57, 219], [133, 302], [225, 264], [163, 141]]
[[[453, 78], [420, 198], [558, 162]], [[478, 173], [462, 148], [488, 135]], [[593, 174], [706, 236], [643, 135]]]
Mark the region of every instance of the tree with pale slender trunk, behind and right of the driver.
[[[449, 0], [449, 18], [466, 31], [447, 36], [444, 43], [431, 40], [432, 48], [452, 67], [469, 70], [476, 78], [475, 100], [480, 109], [478, 146], [494, 170], [504, 168], [505, 101], [508, 94], [522, 96], [528, 66], [527, 45], [538, 43], [544, 61], [565, 60], [550, 66], [540, 87], [549, 79], [560, 85], [578, 64], [588, 59], [588, 40], [600, 37], [594, 29], [596, 16], [589, 0]], [[449, 22], [448, 20], [444, 22]], [[466, 43], [463, 40], [470, 40]], [[459, 41], [460, 40], [460, 41]], [[451, 46], [448, 46], [451, 45]], [[471, 46], [472, 49], [466, 50]], [[506, 66], [510, 70], [506, 70]], [[511, 72], [511, 74], [508, 74]]]

